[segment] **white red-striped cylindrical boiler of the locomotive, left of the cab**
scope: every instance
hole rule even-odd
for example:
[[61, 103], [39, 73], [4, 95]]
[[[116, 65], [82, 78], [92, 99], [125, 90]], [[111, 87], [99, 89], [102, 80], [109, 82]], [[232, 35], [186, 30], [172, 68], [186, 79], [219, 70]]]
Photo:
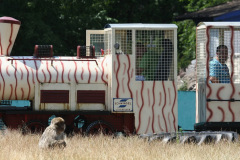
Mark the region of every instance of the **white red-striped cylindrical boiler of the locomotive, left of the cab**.
[[[93, 61], [79, 61], [76, 57], [48, 59], [1, 57], [1, 98], [3, 100], [34, 100], [35, 110], [76, 110], [81, 106], [75, 108], [76, 103], [73, 99], [75, 96], [70, 95], [73, 94], [71, 90], [83, 88], [83, 90], [105, 91], [107, 89], [105, 85], [108, 82], [107, 62], [109, 58], [107, 56]], [[69, 90], [69, 104], [50, 102], [48, 106], [41, 107], [43, 106], [40, 101], [41, 90], [66, 89]], [[105, 109], [103, 104], [94, 105], [94, 108]]]

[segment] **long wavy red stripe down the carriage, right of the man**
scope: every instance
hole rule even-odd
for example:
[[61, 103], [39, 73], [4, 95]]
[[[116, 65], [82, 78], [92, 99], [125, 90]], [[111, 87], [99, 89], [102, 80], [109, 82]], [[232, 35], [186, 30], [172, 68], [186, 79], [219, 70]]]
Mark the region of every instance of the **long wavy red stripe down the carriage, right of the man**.
[[[231, 71], [231, 77], [230, 77], [230, 81], [231, 81], [231, 86], [232, 86], [232, 94], [230, 96], [230, 99], [233, 99], [233, 95], [235, 94], [235, 86], [233, 83], [233, 75], [234, 75], [234, 64], [233, 64], [233, 56], [234, 56], [234, 46], [233, 46], [233, 40], [234, 40], [234, 28], [233, 26], [229, 26], [229, 28], [231, 29], [231, 50], [232, 50], [232, 54], [231, 54], [231, 66], [232, 66], [232, 71]], [[235, 122], [235, 114], [231, 108], [231, 101], [228, 101], [228, 109], [232, 114], [232, 122]]]

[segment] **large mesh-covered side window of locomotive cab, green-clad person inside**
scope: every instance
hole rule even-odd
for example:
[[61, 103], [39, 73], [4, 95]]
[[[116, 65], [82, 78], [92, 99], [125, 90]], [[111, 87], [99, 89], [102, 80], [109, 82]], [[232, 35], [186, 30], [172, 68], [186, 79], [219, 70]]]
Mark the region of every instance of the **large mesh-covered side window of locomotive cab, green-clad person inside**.
[[173, 30], [136, 31], [136, 81], [174, 79]]

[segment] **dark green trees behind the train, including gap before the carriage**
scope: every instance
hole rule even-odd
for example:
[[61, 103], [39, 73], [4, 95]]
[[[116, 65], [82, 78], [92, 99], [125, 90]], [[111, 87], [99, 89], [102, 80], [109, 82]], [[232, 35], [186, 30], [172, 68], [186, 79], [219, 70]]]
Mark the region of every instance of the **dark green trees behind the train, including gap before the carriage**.
[[[172, 23], [177, 15], [228, 0], [2, 0], [0, 16], [22, 22], [12, 55], [32, 55], [34, 45], [52, 44], [54, 55], [75, 55], [86, 29], [107, 23]], [[14, 5], [13, 5], [14, 4]], [[195, 58], [195, 25], [178, 25], [178, 69]]]

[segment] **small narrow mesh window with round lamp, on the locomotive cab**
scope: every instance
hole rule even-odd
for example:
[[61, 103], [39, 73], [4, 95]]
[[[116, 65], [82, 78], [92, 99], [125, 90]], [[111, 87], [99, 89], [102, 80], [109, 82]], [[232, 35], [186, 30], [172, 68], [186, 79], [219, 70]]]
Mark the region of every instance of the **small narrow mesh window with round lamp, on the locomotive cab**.
[[132, 30], [116, 30], [114, 48], [116, 54], [132, 54]]

